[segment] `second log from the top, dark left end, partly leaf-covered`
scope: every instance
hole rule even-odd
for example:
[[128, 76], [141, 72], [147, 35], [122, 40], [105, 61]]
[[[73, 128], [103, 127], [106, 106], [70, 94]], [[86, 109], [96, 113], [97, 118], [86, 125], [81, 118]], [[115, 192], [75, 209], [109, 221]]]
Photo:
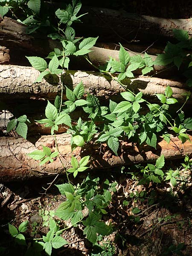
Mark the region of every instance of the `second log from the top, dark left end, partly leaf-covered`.
[[[35, 33], [34, 35], [26, 34], [26, 26], [19, 23], [11, 18], [4, 17], [3, 20], [0, 19], [0, 43], [4, 47], [11, 49], [12, 59], [10, 64], [20, 64], [22, 62], [27, 65], [27, 60], [24, 58], [25, 55], [32, 56], [37, 55], [41, 57], [47, 57], [49, 52], [54, 51], [54, 48], [62, 49], [61, 44], [58, 41], [52, 40], [43, 36], [42, 34]], [[16, 51], [17, 49], [17, 51]], [[131, 56], [140, 54], [139, 52], [128, 51]], [[16, 56], [15, 56], [16, 55]], [[92, 52], [88, 54], [90, 61], [98, 66], [104, 65], [106, 61], [109, 60], [109, 56], [119, 60], [119, 51], [93, 47]], [[143, 54], [141, 54], [143, 57]], [[156, 56], [150, 55], [153, 60]], [[78, 61], [77, 61], [78, 60]], [[93, 70], [93, 66], [90, 65], [82, 56], [74, 57], [72, 56], [70, 61], [70, 69], [79, 69], [79, 62], [81, 62], [82, 70]], [[175, 75], [174, 68], [166, 70], [167, 67], [164, 66], [154, 66], [154, 72], [163, 71], [163, 76]], [[141, 74], [141, 70], [135, 70], [134, 73]]]

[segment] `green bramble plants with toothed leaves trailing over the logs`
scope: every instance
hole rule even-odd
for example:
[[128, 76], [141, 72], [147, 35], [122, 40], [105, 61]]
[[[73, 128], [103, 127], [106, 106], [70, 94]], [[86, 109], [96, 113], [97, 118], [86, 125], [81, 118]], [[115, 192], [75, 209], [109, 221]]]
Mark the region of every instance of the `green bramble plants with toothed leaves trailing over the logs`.
[[[3, 3], [3, 4], [2, 4]], [[44, 4], [41, 6], [40, 0], [29, 0], [19, 3], [18, 1], [1, 1], [0, 14], [2, 16], [10, 14], [15, 17], [15, 13], [22, 12], [20, 21], [27, 24], [27, 32], [32, 33], [41, 31], [46, 27], [47, 36], [60, 43], [60, 49], [55, 48], [50, 52], [46, 59], [38, 56], [26, 57], [29, 63], [38, 70], [39, 76], [34, 81], [40, 83], [42, 79], [49, 76], [61, 79], [61, 93], [58, 94], [54, 102], [47, 101], [45, 108], [45, 116], [41, 120], [36, 120], [39, 124], [51, 128], [51, 135], [55, 137], [55, 150], [42, 145], [42, 150], [35, 150], [28, 154], [40, 165], [49, 165], [57, 157], [66, 171], [67, 183], [57, 184], [57, 188], [65, 200], [58, 206], [55, 212], [45, 211], [41, 215], [44, 216], [44, 224], [49, 228], [46, 236], [32, 241], [26, 242], [23, 233], [27, 229], [28, 222], [20, 224], [18, 229], [14, 225], [9, 224], [9, 233], [14, 238], [15, 244], [26, 247], [26, 255], [41, 255], [42, 251], [47, 255], [52, 255], [55, 249], [61, 248], [67, 244], [66, 239], [62, 236], [64, 228], [58, 224], [57, 220], [68, 221], [72, 227], [79, 227], [83, 230], [83, 235], [93, 245], [91, 255], [113, 255], [115, 249], [110, 242], [106, 244], [99, 243], [103, 237], [110, 236], [117, 232], [112, 222], [105, 221], [105, 215], [112, 204], [113, 193], [116, 192], [116, 182], [109, 179], [101, 180], [98, 177], [92, 177], [89, 168], [94, 160], [93, 154], [86, 155], [86, 149], [96, 146], [102, 148], [102, 143], [106, 143], [108, 150], [113, 156], [120, 156], [123, 153], [122, 145], [124, 142], [131, 142], [134, 145], [148, 145], [151, 150], [157, 148], [157, 143], [162, 138], [169, 143], [172, 137], [178, 137], [181, 143], [190, 141], [187, 130], [192, 130], [192, 117], [185, 116], [183, 106], [189, 100], [190, 91], [184, 96], [186, 101], [182, 106], [177, 99], [173, 97], [173, 91], [170, 86], [165, 88], [162, 94], [156, 93], [157, 103], [150, 103], [145, 99], [142, 92], [133, 93], [124, 84], [124, 79], [134, 78], [134, 71], [142, 70], [143, 75], [150, 75], [154, 70], [154, 65], [173, 64], [180, 72], [180, 67], [184, 67], [183, 72], [186, 76], [186, 83], [191, 86], [191, 68], [192, 55], [189, 50], [192, 47], [192, 40], [184, 30], [174, 30], [177, 44], [168, 42], [164, 53], [158, 55], [153, 61], [145, 52], [145, 55], [130, 56], [129, 53], [120, 44], [119, 60], [110, 58], [106, 61], [106, 65], [96, 67], [101, 73], [107, 74], [121, 85], [125, 92], [121, 93], [121, 101], [115, 102], [110, 100], [108, 105], [102, 105], [97, 96], [85, 92], [82, 81], [74, 88], [65, 85], [62, 79], [64, 70], [68, 70], [71, 56], [84, 56], [87, 61], [88, 53], [96, 44], [97, 38], [76, 38], [73, 29], [74, 22], [80, 22], [82, 15], [78, 16], [81, 9], [81, 2], [73, 0], [71, 4], [65, 6], [65, 9], [57, 9], [55, 18], [58, 25], [52, 26], [51, 20], [41, 17]], [[49, 32], [49, 33], [48, 33]], [[89, 61], [90, 62], [90, 61]], [[87, 93], [87, 96], [85, 96]], [[63, 101], [63, 95], [67, 100]], [[174, 115], [170, 113], [170, 106], [174, 105]], [[79, 119], [73, 120], [73, 111], [80, 110], [84, 113]], [[26, 115], [13, 118], [7, 125], [7, 133], [15, 129], [18, 135], [27, 137], [27, 124], [30, 122]], [[71, 161], [69, 168], [62, 162], [63, 158], [59, 152], [56, 140], [56, 132], [59, 125], [66, 128], [67, 133], [71, 135]], [[81, 147], [84, 157], [76, 155], [75, 150]], [[188, 156], [185, 157], [183, 167], [188, 170], [191, 168], [191, 161]], [[135, 165], [130, 172], [132, 180], [137, 181], [137, 186], [160, 186], [166, 184], [170, 189], [183, 184], [180, 178], [181, 167], [178, 169], [165, 169], [165, 157], [160, 155], [155, 163], [148, 163], [145, 166]], [[125, 169], [126, 170], [126, 169]], [[122, 172], [125, 171], [122, 168]], [[73, 183], [72, 179], [79, 177], [79, 173], [86, 172], [81, 183]], [[152, 185], [151, 185], [152, 184]], [[155, 189], [153, 190], [155, 192]], [[152, 192], [151, 192], [152, 194]], [[131, 207], [132, 215], [129, 221], [140, 223], [141, 209], [138, 206], [132, 207], [132, 201], [146, 201], [146, 192], [130, 193], [123, 200], [123, 207], [128, 209]], [[147, 204], [159, 204], [155, 197], [148, 197]], [[45, 215], [47, 217], [45, 217]], [[35, 226], [34, 226], [35, 230]], [[119, 237], [120, 237], [119, 233]], [[125, 242], [125, 241], [124, 241]], [[177, 250], [177, 247], [168, 248], [168, 250]], [[182, 248], [180, 248], [181, 250]], [[6, 247], [1, 247], [6, 251]], [[95, 252], [94, 252], [95, 250]], [[96, 253], [98, 251], [98, 253]], [[5, 254], [6, 255], [6, 254]]]

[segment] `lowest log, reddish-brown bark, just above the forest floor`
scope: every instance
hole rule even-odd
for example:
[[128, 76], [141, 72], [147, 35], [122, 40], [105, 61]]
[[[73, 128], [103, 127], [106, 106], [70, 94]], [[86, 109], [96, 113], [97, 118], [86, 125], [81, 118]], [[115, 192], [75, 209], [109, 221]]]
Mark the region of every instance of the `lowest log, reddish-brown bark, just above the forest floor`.
[[[192, 136], [190, 136], [192, 140]], [[70, 167], [71, 146], [70, 135], [61, 134], [56, 136], [58, 150], [61, 154], [52, 163], [43, 166], [38, 165], [38, 161], [27, 156], [28, 153], [42, 149], [46, 145], [55, 151], [53, 136], [30, 137], [25, 140], [21, 137], [2, 137], [0, 140], [0, 182], [24, 180], [32, 177], [43, 177], [53, 174], [63, 174], [66, 168]], [[172, 137], [168, 144], [162, 140], [157, 144], [157, 150], [147, 145], [133, 145], [129, 142], [120, 142], [118, 157], [108, 148], [106, 144], [93, 144], [85, 146], [84, 150], [76, 148], [74, 156], [83, 157], [90, 155], [91, 169], [109, 169], [116, 166], [127, 166], [139, 162], [153, 162], [163, 154], [166, 159], [177, 159], [185, 154], [192, 155], [192, 144], [186, 142], [181, 144], [180, 140]]]

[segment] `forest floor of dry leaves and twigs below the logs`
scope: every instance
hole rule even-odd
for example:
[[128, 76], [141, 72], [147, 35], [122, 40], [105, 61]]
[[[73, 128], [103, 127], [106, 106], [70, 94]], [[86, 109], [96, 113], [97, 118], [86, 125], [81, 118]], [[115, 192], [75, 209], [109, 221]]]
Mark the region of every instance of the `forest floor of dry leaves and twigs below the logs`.
[[[169, 167], [180, 166], [178, 161]], [[131, 169], [108, 173], [108, 179], [116, 182], [112, 202], [104, 215], [116, 231], [108, 237], [100, 237], [98, 246], [92, 247], [85, 239], [81, 227], [71, 227], [69, 221], [59, 221], [54, 216], [58, 205], [65, 200], [54, 184], [64, 183], [66, 177], [31, 180], [23, 183], [0, 185], [0, 246], [6, 246], [5, 255], [17, 255], [13, 240], [9, 236], [7, 223], [18, 228], [22, 221], [29, 221], [26, 239], [39, 239], [48, 232], [50, 216], [61, 228], [69, 227], [63, 238], [68, 244], [52, 255], [96, 255], [96, 256], [174, 256], [192, 255], [192, 181], [191, 170], [180, 169], [177, 185], [170, 183], [139, 185], [132, 180]], [[94, 175], [94, 174], [93, 174]], [[97, 172], [98, 176], [98, 172]], [[106, 172], [99, 173], [105, 179]], [[105, 177], [104, 177], [105, 176]], [[133, 211], [134, 209], [134, 211]], [[134, 212], [134, 213], [133, 213]], [[18, 255], [24, 255], [19, 250]]]

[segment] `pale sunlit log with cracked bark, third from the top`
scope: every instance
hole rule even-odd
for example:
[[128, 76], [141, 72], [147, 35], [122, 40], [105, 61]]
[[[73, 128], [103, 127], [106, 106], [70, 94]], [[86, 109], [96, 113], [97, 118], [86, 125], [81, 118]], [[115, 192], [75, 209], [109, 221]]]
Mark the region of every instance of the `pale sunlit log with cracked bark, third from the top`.
[[[21, 67], [12, 65], [0, 66], [0, 98], [1, 99], [22, 99], [22, 98], [44, 98], [55, 99], [58, 93], [61, 93], [61, 81], [55, 81], [50, 75], [41, 81], [41, 83], [33, 83], [40, 72], [32, 67]], [[118, 101], [119, 93], [125, 91], [125, 88], [132, 90], [134, 93], [142, 91], [149, 99], [155, 93], [164, 93], [166, 86], [172, 87], [173, 97], [179, 101], [186, 99], [183, 93], [187, 93], [187, 89], [183, 83], [159, 79], [153, 77], [139, 76], [134, 79], [125, 79], [122, 87], [111, 76], [103, 75], [98, 72], [81, 72], [81, 71], [66, 71], [62, 75], [64, 84], [67, 87], [75, 87], [81, 80], [85, 87], [85, 93], [93, 93], [102, 99], [115, 99]], [[64, 99], [66, 96], [64, 94]], [[121, 98], [119, 98], [120, 100]], [[192, 98], [189, 99], [192, 103]]]

